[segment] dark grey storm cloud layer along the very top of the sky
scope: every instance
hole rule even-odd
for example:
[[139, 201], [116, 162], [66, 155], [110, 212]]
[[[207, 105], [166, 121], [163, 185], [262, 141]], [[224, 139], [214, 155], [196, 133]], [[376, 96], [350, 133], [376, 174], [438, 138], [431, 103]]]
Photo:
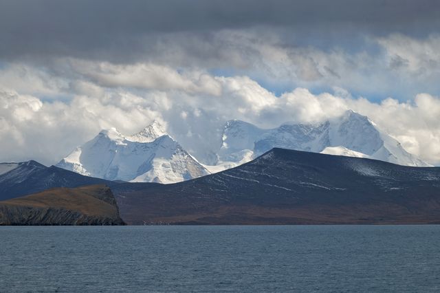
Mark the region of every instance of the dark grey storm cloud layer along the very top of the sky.
[[1, 1], [0, 58], [135, 59], [164, 33], [207, 38], [212, 31], [257, 25], [310, 32], [316, 36], [311, 43], [345, 32], [350, 38], [360, 32], [417, 36], [439, 30], [439, 12], [440, 2], [433, 0]]

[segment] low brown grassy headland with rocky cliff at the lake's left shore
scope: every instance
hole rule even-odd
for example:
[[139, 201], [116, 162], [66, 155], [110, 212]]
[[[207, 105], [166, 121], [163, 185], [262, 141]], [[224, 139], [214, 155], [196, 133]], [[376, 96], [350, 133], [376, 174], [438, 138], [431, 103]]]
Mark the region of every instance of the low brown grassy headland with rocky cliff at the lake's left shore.
[[124, 225], [109, 187], [54, 188], [0, 202], [0, 225]]

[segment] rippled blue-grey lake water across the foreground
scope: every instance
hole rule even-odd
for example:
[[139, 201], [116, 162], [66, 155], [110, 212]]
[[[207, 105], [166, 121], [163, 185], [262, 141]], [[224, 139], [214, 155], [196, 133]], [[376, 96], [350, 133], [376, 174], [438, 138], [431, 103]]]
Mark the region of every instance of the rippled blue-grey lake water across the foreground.
[[0, 228], [2, 292], [439, 292], [440, 226]]

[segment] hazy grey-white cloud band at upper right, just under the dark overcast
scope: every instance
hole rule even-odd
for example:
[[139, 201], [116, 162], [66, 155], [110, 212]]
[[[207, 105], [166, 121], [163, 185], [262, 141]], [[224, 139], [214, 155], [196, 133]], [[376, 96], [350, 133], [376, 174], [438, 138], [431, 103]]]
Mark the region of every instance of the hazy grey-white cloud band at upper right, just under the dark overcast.
[[230, 69], [234, 75], [252, 76], [283, 89], [342, 87], [399, 100], [440, 91], [440, 36], [360, 34], [357, 38], [318, 46], [295, 32], [276, 28], [164, 34], [151, 46], [148, 57], [170, 67]]

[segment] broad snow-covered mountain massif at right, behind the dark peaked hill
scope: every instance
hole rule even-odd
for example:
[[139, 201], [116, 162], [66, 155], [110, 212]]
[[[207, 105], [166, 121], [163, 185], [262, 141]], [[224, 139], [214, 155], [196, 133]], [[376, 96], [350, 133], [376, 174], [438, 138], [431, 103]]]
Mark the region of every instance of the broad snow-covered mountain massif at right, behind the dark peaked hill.
[[228, 121], [218, 151], [218, 165], [243, 164], [274, 147], [371, 158], [406, 166], [430, 166], [405, 151], [369, 118], [351, 110], [320, 124], [283, 124], [276, 129], [259, 129], [248, 122]]

